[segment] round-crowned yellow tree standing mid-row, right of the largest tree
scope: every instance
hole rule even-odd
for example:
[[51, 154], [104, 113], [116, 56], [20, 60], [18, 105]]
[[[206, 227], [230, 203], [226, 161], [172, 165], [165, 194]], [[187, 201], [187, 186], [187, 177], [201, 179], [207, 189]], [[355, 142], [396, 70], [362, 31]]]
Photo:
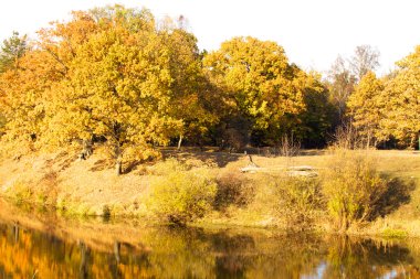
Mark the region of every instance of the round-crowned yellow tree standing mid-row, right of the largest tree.
[[274, 42], [234, 37], [208, 54], [203, 65], [225, 93], [231, 115], [246, 119], [254, 135], [279, 141], [293, 116], [304, 110], [303, 88], [283, 47]]

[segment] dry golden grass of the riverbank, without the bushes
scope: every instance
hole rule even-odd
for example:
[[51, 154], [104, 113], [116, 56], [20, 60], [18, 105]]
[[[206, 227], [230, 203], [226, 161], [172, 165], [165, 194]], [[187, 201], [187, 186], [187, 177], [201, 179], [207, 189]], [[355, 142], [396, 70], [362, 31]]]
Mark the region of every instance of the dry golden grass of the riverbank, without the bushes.
[[[311, 153], [314, 152], [312, 151]], [[381, 161], [401, 160], [405, 161], [406, 165], [418, 160], [417, 153], [409, 151], [375, 151], [374, 153], [381, 155]], [[267, 178], [262, 174], [240, 173], [239, 170], [248, 163], [245, 155], [234, 154], [234, 159], [232, 159], [233, 157], [228, 158], [228, 162], [219, 162], [217, 164], [216, 160], [221, 155], [224, 157], [227, 154], [202, 152], [198, 157], [197, 154], [191, 155], [190, 152], [185, 152], [178, 154], [181, 158], [178, 159], [195, 164], [193, 168], [197, 168], [197, 170], [210, 165], [212, 175], [218, 178], [224, 175], [230, 183], [241, 181], [241, 183], [256, 183], [258, 186], [267, 183], [264, 181]], [[11, 159], [3, 160], [0, 163], [0, 196], [6, 197], [10, 203], [32, 203], [32, 206], [39, 208], [54, 208], [53, 211], [57, 215], [64, 217], [117, 217], [162, 224], [161, 219], [157, 218], [149, 211], [146, 201], [150, 192], [150, 180], [159, 176], [160, 170], [156, 169], [155, 165], [140, 165], [128, 174], [113, 176], [112, 169], [98, 164], [98, 162], [103, 162], [104, 160], [101, 155], [93, 157], [86, 161], [73, 160], [71, 162], [69, 162], [69, 154], [61, 152], [49, 155], [25, 157], [19, 161]], [[206, 158], [206, 160], [202, 160], [202, 158]], [[327, 158], [328, 154], [322, 151], [322, 153], [315, 153], [315, 155], [305, 154], [296, 158], [263, 158], [255, 155], [254, 160], [259, 165], [271, 168], [272, 165], [280, 164], [304, 165], [305, 162], [316, 168], [323, 168]], [[210, 159], [212, 159], [211, 162]], [[66, 163], [66, 165], [63, 163]], [[399, 168], [402, 169], [406, 165], [399, 165]], [[162, 167], [165, 169], [167, 165]], [[92, 170], [93, 168], [96, 169]], [[392, 168], [388, 168], [385, 171], [389, 173], [399, 171], [398, 169], [395, 170], [395, 167]], [[399, 176], [402, 179], [412, 180], [414, 187], [419, 185], [419, 178], [412, 178], [412, 174], [416, 175], [418, 173], [417, 168], [419, 165], [416, 164], [412, 170], [407, 170], [406, 168], [406, 172], [399, 173]], [[6, 172], [4, 170], [7, 169], [11, 171]], [[384, 171], [384, 165], [379, 165], [379, 169]], [[81, 173], [81, 175], [77, 178], [72, 176], [75, 173]], [[28, 178], [31, 178], [32, 181]], [[83, 181], [87, 183], [82, 185]], [[29, 187], [28, 185], [23, 185], [24, 183], [32, 183], [30, 185], [36, 186]], [[416, 190], [417, 187], [410, 192], [410, 200], [408, 202], [399, 205], [385, 217], [376, 218], [361, 226], [350, 226], [344, 234], [368, 237], [420, 237], [420, 222], [416, 219], [418, 214], [414, 204], [417, 201]], [[337, 232], [332, 223], [326, 219], [326, 216], [316, 217], [311, 227], [291, 229], [293, 227], [287, 224], [285, 225], [284, 222], [280, 222], [273, 208], [269, 207], [269, 204], [273, 202], [270, 200], [270, 194], [264, 193], [265, 190], [259, 191], [255, 192], [256, 197], [254, 197], [258, 202], [243, 202], [242, 200], [240, 202], [232, 202], [222, 210], [211, 210], [203, 217], [189, 222], [188, 226], [242, 227], [276, 229], [280, 232], [304, 230], [328, 234]]]

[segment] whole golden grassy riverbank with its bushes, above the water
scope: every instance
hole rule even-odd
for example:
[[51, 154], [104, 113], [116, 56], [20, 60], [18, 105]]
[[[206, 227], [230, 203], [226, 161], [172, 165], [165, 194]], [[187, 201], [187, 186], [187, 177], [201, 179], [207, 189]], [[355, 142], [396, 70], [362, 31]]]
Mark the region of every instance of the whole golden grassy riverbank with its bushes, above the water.
[[[240, 171], [250, 164], [243, 154], [187, 150], [165, 157], [126, 167], [130, 172], [120, 176], [101, 152], [87, 160], [69, 151], [4, 159], [0, 193], [66, 216], [420, 236], [420, 154], [412, 151], [253, 155], [254, 172]], [[306, 167], [318, 175], [291, 175]]]

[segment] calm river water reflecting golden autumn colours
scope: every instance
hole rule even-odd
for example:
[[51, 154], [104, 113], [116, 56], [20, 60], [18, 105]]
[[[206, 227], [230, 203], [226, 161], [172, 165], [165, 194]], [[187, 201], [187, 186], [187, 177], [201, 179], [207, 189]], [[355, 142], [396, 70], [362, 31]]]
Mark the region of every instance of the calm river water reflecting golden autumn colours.
[[0, 278], [420, 278], [417, 239], [15, 219], [0, 216]]

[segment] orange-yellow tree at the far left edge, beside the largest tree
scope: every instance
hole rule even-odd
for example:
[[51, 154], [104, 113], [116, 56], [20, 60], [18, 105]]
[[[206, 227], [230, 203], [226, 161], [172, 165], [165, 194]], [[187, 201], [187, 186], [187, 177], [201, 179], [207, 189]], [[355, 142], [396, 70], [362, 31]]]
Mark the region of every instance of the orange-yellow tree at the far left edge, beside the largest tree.
[[[0, 76], [4, 138], [35, 147], [45, 121], [45, 106], [52, 86], [63, 78], [61, 65], [40, 50], [29, 51], [19, 67]], [[22, 149], [20, 149], [22, 150]]]

